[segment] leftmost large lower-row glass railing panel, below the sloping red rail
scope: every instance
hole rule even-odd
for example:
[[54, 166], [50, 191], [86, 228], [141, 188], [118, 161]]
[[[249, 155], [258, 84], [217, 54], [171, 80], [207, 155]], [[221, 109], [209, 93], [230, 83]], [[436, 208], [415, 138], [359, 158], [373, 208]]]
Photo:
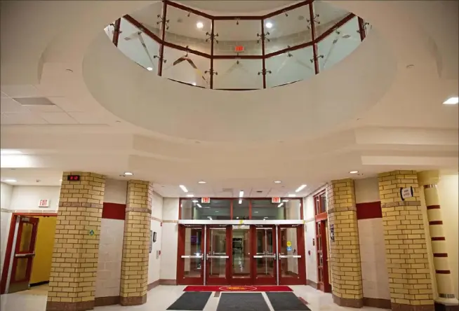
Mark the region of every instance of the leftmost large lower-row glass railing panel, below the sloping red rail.
[[119, 50], [140, 66], [157, 74], [159, 43], [124, 18], [121, 18], [120, 32]]

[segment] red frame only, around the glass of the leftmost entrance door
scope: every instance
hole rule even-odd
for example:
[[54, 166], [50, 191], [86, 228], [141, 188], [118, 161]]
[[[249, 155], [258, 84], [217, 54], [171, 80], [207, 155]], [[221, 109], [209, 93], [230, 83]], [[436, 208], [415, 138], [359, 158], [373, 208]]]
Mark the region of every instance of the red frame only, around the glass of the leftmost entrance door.
[[189, 226], [178, 226], [178, 251], [177, 251], [177, 284], [180, 285], [202, 285], [204, 284], [204, 226], [193, 226], [193, 228], [201, 229], [201, 254], [203, 259], [201, 260], [201, 277], [185, 277], [185, 237], [186, 230]]

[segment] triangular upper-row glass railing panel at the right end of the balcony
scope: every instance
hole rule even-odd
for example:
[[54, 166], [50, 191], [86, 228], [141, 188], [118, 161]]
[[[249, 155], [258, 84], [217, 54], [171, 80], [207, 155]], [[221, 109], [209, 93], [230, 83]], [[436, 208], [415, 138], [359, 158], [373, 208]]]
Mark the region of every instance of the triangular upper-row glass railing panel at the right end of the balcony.
[[342, 8], [333, 6], [321, 0], [312, 2], [314, 6], [314, 23], [316, 28], [316, 38], [324, 34], [328, 29], [333, 28], [340, 20], [350, 13]]

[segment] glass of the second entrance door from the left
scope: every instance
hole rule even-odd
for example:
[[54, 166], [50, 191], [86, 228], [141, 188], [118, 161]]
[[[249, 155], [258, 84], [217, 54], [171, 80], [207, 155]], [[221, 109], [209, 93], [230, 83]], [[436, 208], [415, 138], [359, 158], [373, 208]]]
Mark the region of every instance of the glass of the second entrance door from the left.
[[[226, 228], [209, 228], [209, 256], [226, 256]], [[209, 277], [225, 277], [227, 258], [208, 258]]]

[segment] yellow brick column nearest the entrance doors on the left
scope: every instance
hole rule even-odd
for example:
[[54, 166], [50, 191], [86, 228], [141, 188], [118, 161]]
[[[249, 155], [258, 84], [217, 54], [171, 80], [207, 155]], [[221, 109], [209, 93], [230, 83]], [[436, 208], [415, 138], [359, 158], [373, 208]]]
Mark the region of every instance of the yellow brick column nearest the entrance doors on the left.
[[128, 181], [121, 262], [121, 305], [147, 302], [148, 254], [153, 185], [149, 181]]

